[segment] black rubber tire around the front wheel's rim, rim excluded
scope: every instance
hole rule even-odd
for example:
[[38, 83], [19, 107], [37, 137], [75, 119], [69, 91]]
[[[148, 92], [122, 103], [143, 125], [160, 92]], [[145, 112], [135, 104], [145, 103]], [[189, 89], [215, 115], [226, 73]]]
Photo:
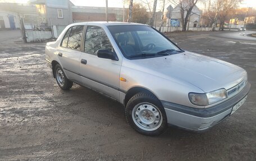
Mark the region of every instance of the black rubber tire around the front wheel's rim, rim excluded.
[[[161, 126], [159, 126], [157, 128], [157, 130], [145, 131], [145, 130], [141, 129], [140, 127], [138, 127], [136, 125], [136, 123], [133, 121], [132, 110], [134, 109], [134, 107], [137, 104], [142, 103], [142, 102], [148, 102], [150, 104], [154, 104], [161, 112], [163, 121], [162, 121]], [[140, 134], [149, 135], [149, 136], [157, 136], [157, 135], [162, 134], [167, 128], [166, 112], [164, 111], [162, 103], [153, 94], [138, 93], [138, 94], [135, 94], [134, 96], [132, 96], [132, 98], [129, 100], [129, 102], [126, 105], [125, 116], [126, 116], [126, 120], [129, 123], [129, 125], [132, 128], [134, 128], [135, 131], [138, 131]]]

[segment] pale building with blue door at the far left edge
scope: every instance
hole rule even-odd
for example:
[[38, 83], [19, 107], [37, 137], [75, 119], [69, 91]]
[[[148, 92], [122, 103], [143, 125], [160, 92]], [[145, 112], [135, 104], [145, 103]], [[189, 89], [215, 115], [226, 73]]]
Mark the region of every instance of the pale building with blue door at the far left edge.
[[0, 30], [20, 28], [19, 16], [17, 13], [0, 10]]

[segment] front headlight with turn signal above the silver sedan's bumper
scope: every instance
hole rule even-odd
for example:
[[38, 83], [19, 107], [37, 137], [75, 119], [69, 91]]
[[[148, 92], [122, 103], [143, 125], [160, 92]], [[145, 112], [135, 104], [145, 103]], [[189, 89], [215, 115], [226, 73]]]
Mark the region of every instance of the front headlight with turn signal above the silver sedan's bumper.
[[207, 106], [227, 98], [225, 89], [218, 89], [209, 93], [189, 93], [189, 100], [194, 105]]

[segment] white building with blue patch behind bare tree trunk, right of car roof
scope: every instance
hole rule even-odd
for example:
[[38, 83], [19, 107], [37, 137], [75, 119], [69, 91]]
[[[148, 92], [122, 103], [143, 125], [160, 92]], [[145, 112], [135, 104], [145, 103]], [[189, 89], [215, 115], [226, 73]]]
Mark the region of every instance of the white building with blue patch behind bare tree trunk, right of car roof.
[[[201, 15], [202, 15], [202, 11], [200, 11], [199, 8], [195, 6], [191, 11], [191, 14], [189, 17], [189, 22], [188, 22], [189, 27], [199, 27]], [[186, 16], [186, 11], [184, 13], [184, 19], [185, 19], [185, 16]], [[182, 27], [182, 24], [180, 22], [181, 21], [180, 4], [178, 4], [174, 8], [171, 5], [168, 6], [166, 17], [167, 17], [167, 20], [166, 20], [167, 26], [169, 25], [172, 27]]]

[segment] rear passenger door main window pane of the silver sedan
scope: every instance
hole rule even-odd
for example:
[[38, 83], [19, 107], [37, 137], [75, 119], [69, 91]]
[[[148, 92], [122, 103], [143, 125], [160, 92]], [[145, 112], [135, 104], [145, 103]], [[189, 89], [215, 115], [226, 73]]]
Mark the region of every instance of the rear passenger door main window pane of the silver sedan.
[[70, 31], [70, 36], [67, 42], [67, 48], [70, 49], [81, 49], [81, 37], [83, 34], [84, 26], [73, 26]]

